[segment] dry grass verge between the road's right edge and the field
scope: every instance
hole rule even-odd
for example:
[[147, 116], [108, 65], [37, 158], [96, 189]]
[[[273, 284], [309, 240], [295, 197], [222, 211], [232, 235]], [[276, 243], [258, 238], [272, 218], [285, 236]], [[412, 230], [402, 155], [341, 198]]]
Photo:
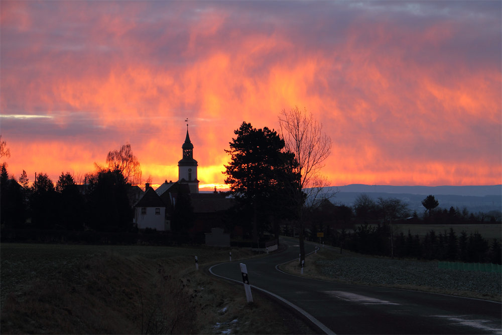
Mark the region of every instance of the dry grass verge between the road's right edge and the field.
[[[317, 245], [319, 246], [319, 245]], [[317, 251], [317, 254], [310, 254], [306, 257], [305, 259], [305, 266], [304, 266], [304, 277], [308, 278], [313, 278], [313, 279], [320, 279], [320, 280], [326, 280], [326, 281], [332, 281], [332, 282], [337, 282], [337, 283], [346, 283], [346, 284], [358, 284], [358, 285], [369, 285], [369, 286], [380, 286], [380, 287], [390, 287], [390, 288], [400, 288], [400, 289], [407, 289], [407, 290], [413, 290], [413, 291], [421, 291], [421, 292], [431, 292], [431, 293], [440, 293], [440, 294], [448, 294], [448, 295], [454, 295], [454, 296], [461, 296], [461, 297], [468, 297], [468, 298], [476, 298], [476, 299], [484, 299], [484, 300], [493, 300], [493, 301], [501, 301], [502, 298], [498, 295], [495, 294], [482, 294], [478, 292], [472, 292], [472, 291], [456, 291], [456, 290], [448, 290], [448, 289], [442, 289], [442, 288], [437, 288], [437, 287], [430, 287], [430, 286], [423, 286], [423, 285], [403, 285], [403, 284], [394, 284], [394, 285], [387, 285], [387, 284], [382, 284], [382, 285], [373, 285], [367, 282], [363, 281], [350, 281], [350, 280], [343, 280], [339, 278], [331, 278], [327, 277], [323, 272], [322, 272], [322, 265], [316, 264], [317, 261], [330, 261], [330, 260], [337, 260], [341, 257], [366, 257], [366, 258], [376, 258], [373, 256], [367, 256], [367, 255], [362, 255], [362, 254], [357, 254], [357, 253], [351, 253], [348, 250], [343, 250], [342, 254], [340, 255], [337, 251], [339, 248], [333, 248], [334, 250], [330, 250], [328, 248], [321, 248]], [[337, 251], [335, 251], [337, 250]], [[390, 257], [385, 257], [387, 259], [390, 259]], [[416, 261], [416, 260], [415, 260]], [[422, 261], [422, 262], [435, 262], [437, 261]], [[282, 271], [294, 274], [294, 275], [300, 275], [301, 273], [301, 266], [298, 262], [298, 260], [291, 261], [289, 263], [283, 264], [279, 267]], [[382, 271], [385, 271], [385, 269], [382, 269]], [[451, 271], [456, 271], [456, 270], [451, 270]]]

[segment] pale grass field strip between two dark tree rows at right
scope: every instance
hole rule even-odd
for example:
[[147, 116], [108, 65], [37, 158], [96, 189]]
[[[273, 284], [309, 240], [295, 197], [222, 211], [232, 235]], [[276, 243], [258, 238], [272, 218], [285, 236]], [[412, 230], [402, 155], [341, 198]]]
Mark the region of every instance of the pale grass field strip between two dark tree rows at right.
[[[358, 225], [356, 225], [357, 227]], [[481, 236], [490, 242], [495, 238], [500, 241], [502, 236], [502, 225], [501, 224], [484, 224], [484, 225], [396, 225], [398, 230], [402, 231], [404, 234], [408, 234], [410, 230], [412, 235], [418, 234], [420, 237], [424, 237], [427, 232], [434, 230], [436, 234], [443, 233], [445, 230], [449, 231], [453, 228], [457, 236], [460, 235], [462, 231], [466, 231], [467, 235], [477, 231]]]

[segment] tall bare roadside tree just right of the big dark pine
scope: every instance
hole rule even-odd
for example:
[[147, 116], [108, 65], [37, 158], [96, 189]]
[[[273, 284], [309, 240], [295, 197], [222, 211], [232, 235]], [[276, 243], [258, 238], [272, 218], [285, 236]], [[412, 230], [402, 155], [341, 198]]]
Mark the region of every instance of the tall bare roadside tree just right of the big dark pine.
[[297, 161], [293, 166], [297, 182], [291, 184], [290, 188], [299, 228], [300, 258], [305, 260], [305, 221], [324, 199], [330, 197], [325, 189], [329, 182], [320, 174], [320, 169], [330, 154], [331, 138], [322, 133], [322, 124], [314, 119], [312, 113], [307, 113], [305, 108], [302, 111], [298, 106], [288, 112], [283, 109], [279, 115], [279, 125], [281, 137], [286, 143], [285, 150], [294, 153]]

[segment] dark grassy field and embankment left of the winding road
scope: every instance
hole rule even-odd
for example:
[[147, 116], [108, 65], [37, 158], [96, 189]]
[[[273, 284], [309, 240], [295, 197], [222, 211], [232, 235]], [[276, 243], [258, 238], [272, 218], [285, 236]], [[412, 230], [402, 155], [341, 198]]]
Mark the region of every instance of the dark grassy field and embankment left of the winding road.
[[[227, 261], [228, 249], [0, 248], [2, 333], [312, 333], [277, 304], [258, 294], [247, 304], [241, 285], [202, 271]], [[256, 257], [231, 251], [232, 260]]]

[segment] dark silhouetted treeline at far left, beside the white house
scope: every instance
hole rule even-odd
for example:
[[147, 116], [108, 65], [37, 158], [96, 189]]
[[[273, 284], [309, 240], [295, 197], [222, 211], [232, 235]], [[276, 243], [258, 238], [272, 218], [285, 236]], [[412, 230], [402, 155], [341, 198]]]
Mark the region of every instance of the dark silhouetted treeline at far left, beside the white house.
[[70, 173], [61, 173], [56, 184], [39, 173], [30, 187], [26, 172], [9, 178], [0, 166], [0, 224], [2, 228], [97, 232], [134, 232], [131, 187], [123, 174], [102, 169], [86, 175], [83, 192]]

